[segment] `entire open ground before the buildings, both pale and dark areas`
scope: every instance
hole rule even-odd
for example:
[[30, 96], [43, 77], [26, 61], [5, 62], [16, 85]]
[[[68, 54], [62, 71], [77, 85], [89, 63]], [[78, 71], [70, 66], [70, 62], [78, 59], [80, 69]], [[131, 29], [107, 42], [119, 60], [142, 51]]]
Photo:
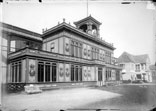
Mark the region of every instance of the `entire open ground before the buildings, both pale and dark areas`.
[[32, 95], [22, 92], [5, 95], [2, 102], [6, 111], [59, 111], [60, 109], [149, 111], [156, 107], [156, 86], [140, 84], [57, 89]]

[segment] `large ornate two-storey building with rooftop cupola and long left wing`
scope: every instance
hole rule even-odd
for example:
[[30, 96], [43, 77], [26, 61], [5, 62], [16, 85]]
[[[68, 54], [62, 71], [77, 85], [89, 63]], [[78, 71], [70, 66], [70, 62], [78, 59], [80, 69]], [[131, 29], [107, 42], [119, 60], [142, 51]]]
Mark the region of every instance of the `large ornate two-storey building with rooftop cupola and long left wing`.
[[88, 16], [74, 24], [63, 19], [38, 34], [1, 23], [3, 84], [17, 90], [27, 84], [89, 86], [120, 81], [115, 48], [100, 39], [101, 23]]

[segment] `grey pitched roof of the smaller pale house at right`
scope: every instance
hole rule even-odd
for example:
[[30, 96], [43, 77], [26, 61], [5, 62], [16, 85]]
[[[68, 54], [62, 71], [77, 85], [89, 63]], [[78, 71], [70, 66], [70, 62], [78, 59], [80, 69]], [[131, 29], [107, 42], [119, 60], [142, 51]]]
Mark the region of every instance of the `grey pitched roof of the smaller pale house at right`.
[[132, 55], [127, 52], [123, 52], [121, 56], [117, 59], [119, 63], [122, 62], [132, 62], [132, 63], [146, 63], [149, 59], [148, 54], [143, 55]]

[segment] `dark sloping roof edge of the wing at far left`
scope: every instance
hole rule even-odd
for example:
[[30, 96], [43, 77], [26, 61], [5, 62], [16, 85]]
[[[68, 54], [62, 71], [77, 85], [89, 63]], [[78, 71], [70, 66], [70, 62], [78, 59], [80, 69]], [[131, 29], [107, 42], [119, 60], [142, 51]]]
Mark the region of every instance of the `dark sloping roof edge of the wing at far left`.
[[0, 27], [2, 27], [3, 31], [42, 41], [41, 34], [38, 34], [36, 32], [29, 31], [29, 30], [26, 30], [26, 29], [23, 29], [14, 25], [10, 25], [7, 23], [3, 23], [3, 22], [0, 22]]

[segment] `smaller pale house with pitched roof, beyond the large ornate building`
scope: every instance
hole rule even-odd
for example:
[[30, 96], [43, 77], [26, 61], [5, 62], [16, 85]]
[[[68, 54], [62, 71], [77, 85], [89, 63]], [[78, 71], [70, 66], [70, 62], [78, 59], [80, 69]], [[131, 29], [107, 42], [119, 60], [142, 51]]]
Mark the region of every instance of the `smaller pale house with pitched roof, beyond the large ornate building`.
[[149, 69], [150, 59], [147, 54], [132, 55], [123, 52], [117, 61], [122, 67], [123, 80], [152, 82], [152, 75]]

